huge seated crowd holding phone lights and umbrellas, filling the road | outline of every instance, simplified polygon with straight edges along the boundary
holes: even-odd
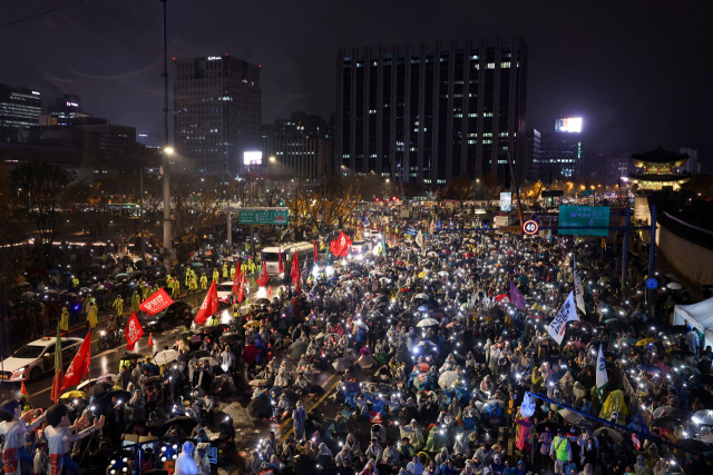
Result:
[[[711,471],[713,353],[668,324],[670,295],[646,305],[644,274],[619,283],[615,259],[572,237],[423,226],[419,244],[389,240],[315,264],[303,291],[258,300],[231,325],[126,355],[115,378],[46,416],[22,410],[27,399],[3,403],[6,473],[51,472],[52,455],[76,472],[84,454],[109,473],[173,464],[207,474],[211,447],[245,448],[221,412],[241,392],[256,422],[284,423],[246,452],[240,473],[251,475]],[[573,290],[575,261],[585,308],[558,344],[547,325]],[[335,392],[319,397],[332,374]],[[316,399],[326,415],[312,410]],[[62,427],[57,448],[52,427]],[[126,434],[157,442],[123,458]]]

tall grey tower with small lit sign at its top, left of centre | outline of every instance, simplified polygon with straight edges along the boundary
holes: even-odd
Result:
[[[175,63],[176,164],[198,174],[235,176],[243,154],[261,147],[260,66],[227,55]]]

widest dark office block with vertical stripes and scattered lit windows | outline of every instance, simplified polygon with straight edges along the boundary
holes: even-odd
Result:
[[[434,189],[526,157],[527,47],[519,37],[339,51],[335,171]],[[343,170],[343,169],[342,169]]]

